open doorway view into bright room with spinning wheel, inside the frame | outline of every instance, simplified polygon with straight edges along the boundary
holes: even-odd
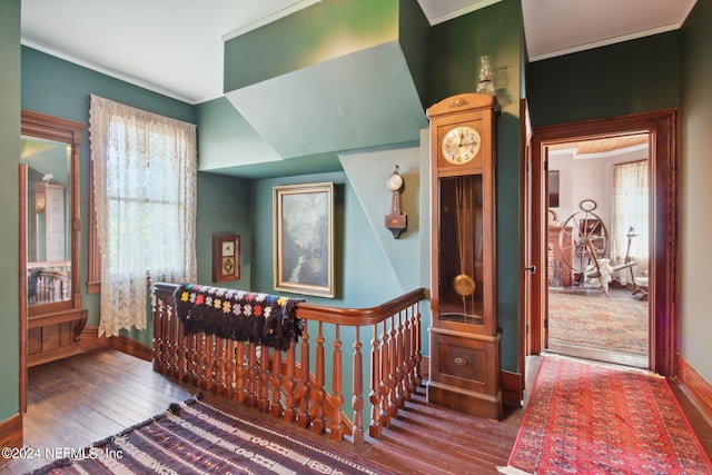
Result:
[[[647,368],[650,135],[545,147],[547,352]]]

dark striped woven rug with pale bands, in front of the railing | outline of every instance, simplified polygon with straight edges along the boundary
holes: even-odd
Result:
[[[192,397],[32,474],[383,474],[333,445],[301,439]]]

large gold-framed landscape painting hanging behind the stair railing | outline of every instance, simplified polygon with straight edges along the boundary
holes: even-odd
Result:
[[[334,184],[274,187],[275,289],[335,296]]]

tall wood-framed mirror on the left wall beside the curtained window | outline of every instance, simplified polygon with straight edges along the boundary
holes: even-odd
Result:
[[[78,308],[79,144],[85,126],[22,111],[29,315]]]

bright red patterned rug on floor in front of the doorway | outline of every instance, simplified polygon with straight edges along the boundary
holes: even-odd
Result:
[[[665,378],[543,358],[505,474],[712,474]]]

